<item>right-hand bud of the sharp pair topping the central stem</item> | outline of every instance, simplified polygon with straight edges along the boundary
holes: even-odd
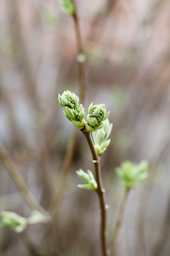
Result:
[[[103,121],[107,119],[109,112],[106,113],[105,104],[94,105],[93,102],[89,106],[89,114],[87,116],[87,131],[95,131],[103,127]]]

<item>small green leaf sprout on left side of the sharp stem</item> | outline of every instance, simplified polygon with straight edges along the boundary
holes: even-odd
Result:
[[[76,171],[78,177],[82,179],[86,184],[77,185],[80,189],[87,189],[87,190],[96,190],[97,189],[97,182],[94,178],[93,173],[88,170],[87,173],[83,170],[79,169],[79,171]]]

